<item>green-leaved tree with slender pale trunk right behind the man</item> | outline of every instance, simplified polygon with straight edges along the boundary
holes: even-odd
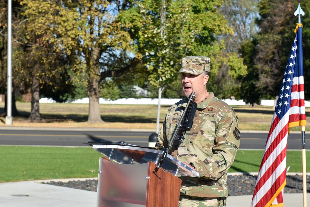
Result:
[[[158,88],[159,126],[162,91],[175,80],[176,68],[184,56],[206,55],[213,61],[212,73],[217,74],[222,64],[231,64],[228,73],[246,73],[242,60],[226,55],[222,42],[216,36],[229,33],[218,8],[221,1],[134,1],[135,7],[120,13],[131,38],[137,42],[143,63],[150,72],[148,81]],[[211,23],[211,24],[210,24]],[[236,64],[236,61],[239,61]],[[239,65],[238,65],[239,64]],[[239,70],[239,71],[237,71]]]

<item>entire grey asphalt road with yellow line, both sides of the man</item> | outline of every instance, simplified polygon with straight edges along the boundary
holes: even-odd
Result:
[[[91,146],[88,142],[121,142],[148,146],[152,130],[104,130],[104,129],[23,129],[0,128],[0,145],[41,145],[41,146]],[[268,132],[241,131],[241,149],[264,149]],[[308,135],[308,139],[307,139]],[[309,143],[306,133],[306,148]],[[291,132],[287,148],[301,149],[300,132]],[[309,147],[310,148],[310,147]]]

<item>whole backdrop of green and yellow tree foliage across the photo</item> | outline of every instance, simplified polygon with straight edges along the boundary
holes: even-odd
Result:
[[[310,2],[300,4],[306,14],[301,20],[308,99]],[[0,0],[1,5],[3,93],[6,2]],[[158,88],[165,89],[163,98],[182,98],[176,81],[181,58],[206,55],[211,58],[208,91],[219,98],[259,103],[278,94],[297,6],[284,0],[13,1],[13,85],[27,93],[35,76],[41,94],[59,101],[96,94],[134,97],[133,85],[148,89],[153,98]],[[106,84],[107,77],[113,78],[114,86]]]

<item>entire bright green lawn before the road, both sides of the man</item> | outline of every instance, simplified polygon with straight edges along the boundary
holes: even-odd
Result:
[[[0,182],[97,177],[101,156],[91,147],[0,146]],[[228,172],[258,172],[262,156],[262,150],[239,150]],[[301,156],[301,151],[287,151],[289,172],[302,172]]]

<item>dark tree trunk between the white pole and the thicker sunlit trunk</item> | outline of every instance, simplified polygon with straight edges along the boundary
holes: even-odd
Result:
[[[44,122],[40,115],[40,85],[37,77],[33,75],[32,77],[32,95],[31,95],[31,113],[28,121],[31,122]]]

